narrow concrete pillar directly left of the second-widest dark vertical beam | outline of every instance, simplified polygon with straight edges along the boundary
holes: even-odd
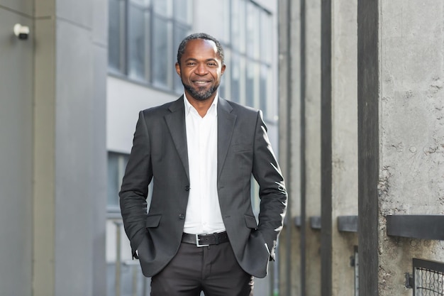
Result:
[[[304,0],[301,16],[301,97],[304,121],[301,122],[304,152],[301,153],[301,198],[304,198],[304,246],[301,249],[301,295],[321,295],[321,231],[312,229],[310,217],[321,216],[321,0]],[[302,131],[304,134],[302,134]]]

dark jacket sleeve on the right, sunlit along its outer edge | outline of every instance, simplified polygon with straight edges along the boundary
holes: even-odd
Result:
[[[287,190],[267,136],[267,127],[262,120],[261,111],[257,112],[252,174],[259,185],[258,230],[267,243],[270,260],[274,260],[277,237],[282,230],[287,209]]]

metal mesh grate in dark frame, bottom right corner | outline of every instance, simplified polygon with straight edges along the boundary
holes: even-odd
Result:
[[[444,263],[414,258],[414,296],[444,296]]]

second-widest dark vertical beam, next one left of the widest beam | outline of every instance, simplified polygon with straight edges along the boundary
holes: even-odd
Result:
[[[332,295],[331,0],[321,2],[321,295]]]

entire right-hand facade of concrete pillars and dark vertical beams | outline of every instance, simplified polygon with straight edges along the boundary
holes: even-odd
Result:
[[[279,1],[279,295],[443,293],[443,12]]]

